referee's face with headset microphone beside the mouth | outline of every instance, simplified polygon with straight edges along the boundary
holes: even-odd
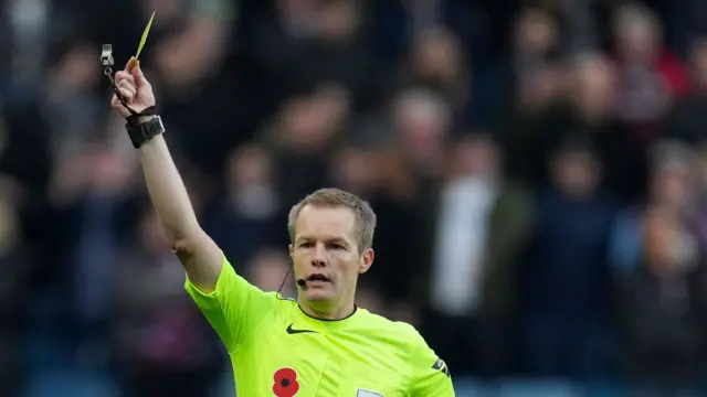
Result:
[[[373,251],[359,253],[354,211],[306,205],[295,223],[289,253],[295,277],[306,280],[299,299],[313,309],[330,310],[354,298],[358,275],[368,270]]]

